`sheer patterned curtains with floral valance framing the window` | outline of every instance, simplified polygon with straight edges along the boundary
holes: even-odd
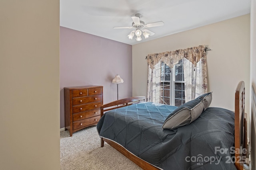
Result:
[[[147,101],[160,102],[161,62],[173,68],[184,58],[185,100],[188,102],[207,92],[205,45],[147,55]]]

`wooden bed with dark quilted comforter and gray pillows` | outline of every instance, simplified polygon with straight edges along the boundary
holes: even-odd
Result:
[[[104,104],[97,124],[101,147],[108,143],[145,170],[242,170],[244,82],[236,88],[235,111],[209,107],[211,98],[204,94],[180,107],[145,97]]]

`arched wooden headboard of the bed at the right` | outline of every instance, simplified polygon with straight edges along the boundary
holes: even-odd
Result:
[[[235,153],[236,168],[243,170],[243,154],[242,149],[246,149],[246,117],[244,116],[244,82],[240,81],[236,87],[235,93],[235,149],[239,152]]]

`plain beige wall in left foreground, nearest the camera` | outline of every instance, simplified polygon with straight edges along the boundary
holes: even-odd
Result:
[[[0,169],[60,169],[59,1],[0,1]]]

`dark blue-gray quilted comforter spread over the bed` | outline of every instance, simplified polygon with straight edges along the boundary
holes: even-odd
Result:
[[[152,102],[106,112],[97,124],[100,137],[119,143],[164,170],[233,170],[234,113],[209,107],[189,125],[162,129],[175,106]],[[232,157],[233,156],[233,157]]]

